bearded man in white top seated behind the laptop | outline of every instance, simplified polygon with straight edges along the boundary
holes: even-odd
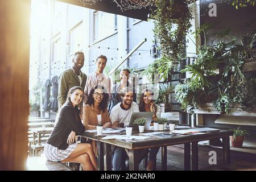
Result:
[[[110,113],[110,120],[113,127],[127,126],[131,114],[139,112],[139,106],[133,102],[134,90],[128,87],[121,92],[122,102],[113,107]],[[112,167],[114,171],[125,170],[126,152],[123,148],[117,147],[112,154]]]

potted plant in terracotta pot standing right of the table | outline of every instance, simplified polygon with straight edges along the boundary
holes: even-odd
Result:
[[[232,147],[242,148],[243,139],[245,139],[245,135],[248,135],[248,131],[242,130],[241,127],[237,127],[233,129],[233,136],[230,136]]]

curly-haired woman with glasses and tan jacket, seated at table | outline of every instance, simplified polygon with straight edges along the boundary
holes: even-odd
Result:
[[[96,85],[90,90],[88,102],[82,110],[82,122],[86,129],[96,129],[97,125],[102,125],[104,128],[112,126],[107,109],[108,100],[109,94],[106,93],[104,86]],[[94,141],[92,146],[97,155]]]

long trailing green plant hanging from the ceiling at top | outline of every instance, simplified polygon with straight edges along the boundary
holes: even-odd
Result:
[[[184,55],[185,36],[191,27],[192,13],[188,7],[191,2],[193,1],[155,1],[154,33],[160,42],[163,64],[168,65],[159,71],[169,72],[176,67]],[[166,76],[165,74],[163,77],[166,78]]]

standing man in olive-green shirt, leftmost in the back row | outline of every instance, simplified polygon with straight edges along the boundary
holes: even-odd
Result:
[[[58,104],[59,109],[67,100],[68,90],[73,86],[81,86],[85,88],[87,76],[81,71],[84,66],[84,53],[76,52],[73,57],[73,67],[65,70],[59,77],[59,94]],[[80,110],[82,109],[82,103],[80,104]]]

